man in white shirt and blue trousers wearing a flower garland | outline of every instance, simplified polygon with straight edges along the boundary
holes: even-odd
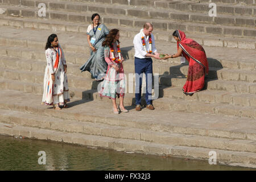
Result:
[[[154,110],[152,105],[152,59],[160,59],[159,53],[155,48],[155,38],[152,34],[153,26],[151,23],[145,23],[141,32],[134,36],[133,44],[135,49],[135,99],[136,110],[141,110],[141,88],[143,73],[146,75],[146,104],[147,109]]]

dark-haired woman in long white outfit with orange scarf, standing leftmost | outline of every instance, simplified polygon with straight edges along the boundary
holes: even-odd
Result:
[[[60,110],[59,105],[67,108],[69,102],[67,64],[56,34],[48,37],[46,60],[42,105],[53,105],[53,109],[56,110]]]

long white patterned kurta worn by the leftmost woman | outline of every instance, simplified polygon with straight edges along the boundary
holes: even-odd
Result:
[[[59,52],[59,64],[56,57]],[[48,48],[46,50],[47,66],[44,73],[44,93],[42,103],[46,105],[59,104],[63,105],[64,101],[69,101],[68,93],[68,77],[64,73],[64,65],[66,64],[63,49],[59,45],[56,49]],[[52,74],[55,73],[55,81],[52,82]]]

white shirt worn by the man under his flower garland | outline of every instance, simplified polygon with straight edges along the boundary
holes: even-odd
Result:
[[[142,35],[144,36],[144,39],[146,41],[146,49],[147,49],[147,51],[149,51],[149,36],[145,36],[145,34],[143,33],[142,30],[141,30]],[[138,57],[140,59],[149,58],[149,57],[145,56],[147,54],[147,52],[144,50],[144,47],[142,45],[141,32],[139,32],[139,34],[135,35],[134,39],[133,39],[133,44],[134,44],[134,49],[135,49],[134,56]],[[152,51],[152,53],[155,53],[157,50],[155,48],[155,38],[154,38],[153,34],[151,34],[151,40],[152,40],[152,44],[151,44],[152,50],[151,51]]]

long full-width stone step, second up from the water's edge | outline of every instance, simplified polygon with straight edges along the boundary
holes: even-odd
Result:
[[[102,123],[78,122],[71,119],[59,119],[48,116],[23,113],[12,110],[0,110],[1,123],[14,126],[27,126],[39,129],[81,133],[102,137],[139,140],[171,146],[216,148],[226,151],[256,152],[255,140],[201,137],[164,131],[150,131],[124,126],[111,126]]]

